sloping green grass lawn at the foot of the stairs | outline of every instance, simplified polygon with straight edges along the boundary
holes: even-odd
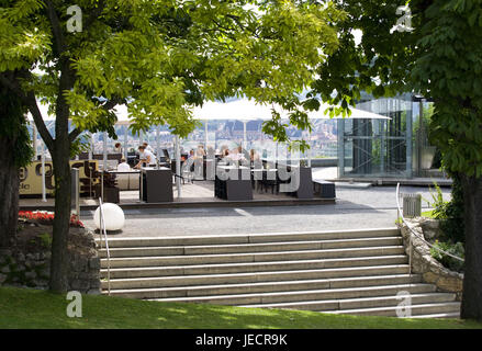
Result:
[[[482,328],[458,319],[356,317],[314,312],[158,303],[110,296],[82,296],[82,317],[69,318],[66,295],[0,287],[0,328]]]

